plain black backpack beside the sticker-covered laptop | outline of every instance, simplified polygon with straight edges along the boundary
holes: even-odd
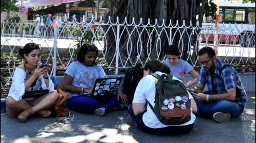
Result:
[[[143,68],[139,65],[129,68],[124,76],[124,94],[127,95],[127,103],[131,104],[139,81],[143,78]]]

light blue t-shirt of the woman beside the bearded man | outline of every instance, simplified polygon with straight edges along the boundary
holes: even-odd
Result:
[[[180,62],[177,63],[177,65],[171,65],[167,59],[162,60],[162,63],[167,65],[170,68],[170,74],[179,78],[179,80],[182,80],[185,74],[194,69],[188,62],[185,62],[185,60],[182,59],[180,59]]]

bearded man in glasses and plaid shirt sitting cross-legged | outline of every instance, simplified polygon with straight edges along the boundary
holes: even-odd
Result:
[[[217,122],[239,117],[247,103],[247,94],[235,68],[217,59],[211,47],[200,49],[199,63],[202,68],[198,83],[192,89],[199,116]],[[208,91],[202,93],[205,85]]]

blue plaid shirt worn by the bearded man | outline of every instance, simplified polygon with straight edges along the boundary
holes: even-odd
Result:
[[[200,70],[198,83],[200,85],[207,84],[207,88],[210,94],[214,94],[212,90],[212,80],[217,90],[217,94],[226,93],[230,88],[237,88],[241,90],[241,93],[237,93],[235,102],[245,106],[247,103],[247,94],[245,93],[244,86],[242,85],[241,79],[234,67],[225,67],[222,73],[221,68],[227,65],[222,60],[217,59],[216,69],[213,74],[210,71],[205,70],[203,67]],[[212,76],[211,76],[212,75]],[[213,77],[213,78],[212,78]]]

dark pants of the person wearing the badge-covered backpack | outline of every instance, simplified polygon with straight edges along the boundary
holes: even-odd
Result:
[[[177,135],[177,134],[187,134],[192,131],[194,124],[189,124],[187,126],[169,126],[169,127],[162,127],[153,129],[150,127],[145,126],[144,122],[142,121],[142,116],[145,113],[140,113],[135,116],[132,106],[128,107],[128,112],[132,119],[137,123],[137,125],[142,129],[142,131],[147,132],[148,134],[154,135]]]

